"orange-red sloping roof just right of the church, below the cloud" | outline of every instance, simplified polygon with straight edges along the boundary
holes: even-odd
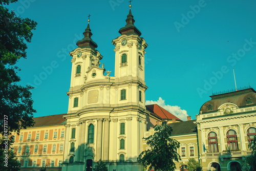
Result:
[[[152,115],[157,116],[159,119],[172,120],[173,118],[175,118],[177,121],[182,121],[178,117],[174,116],[173,114],[163,109],[158,104],[146,105],[146,109],[150,111]]]

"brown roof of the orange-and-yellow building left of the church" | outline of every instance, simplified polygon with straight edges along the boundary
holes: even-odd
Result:
[[[46,125],[57,125],[57,124],[65,124],[66,119],[64,119],[62,116],[66,114],[59,114],[59,115],[49,115],[49,116],[42,116],[42,117],[36,117],[33,118],[35,121],[36,126],[46,126]]]

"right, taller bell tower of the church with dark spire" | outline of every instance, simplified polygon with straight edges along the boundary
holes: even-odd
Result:
[[[132,5],[129,7],[126,25],[119,30],[121,35],[112,41],[115,46],[115,78],[119,81],[133,79],[145,85],[144,55],[147,44],[134,25]]]

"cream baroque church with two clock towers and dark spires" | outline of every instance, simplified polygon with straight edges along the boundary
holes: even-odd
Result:
[[[144,54],[147,44],[131,13],[115,46],[115,76],[106,71],[88,26],[72,57],[71,86],[62,170],[92,170],[94,161],[110,170],[141,170],[140,140],[150,113],[145,107]],[[85,155],[85,156],[84,156]],[[83,157],[84,156],[84,157]],[[125,162],[124,162],[125,161]]]

